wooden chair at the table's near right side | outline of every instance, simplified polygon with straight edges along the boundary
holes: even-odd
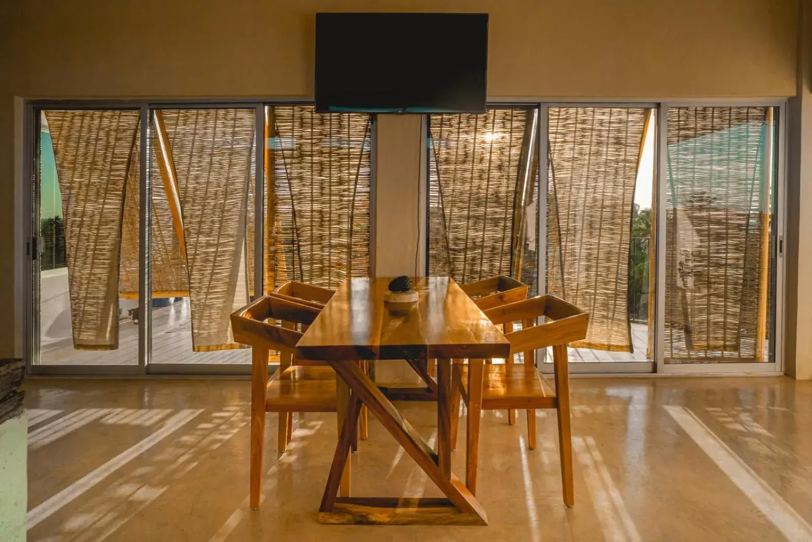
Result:
[[[536,447],[535,409],[555,409],[559,423],[559,450],[561,455],[561,480],[564,486],[564,504],[575,502],[572,489],[572,442],[569,414],[569,373],[567,366],[568,343],[586,336],[589,314],[554,296],[538,296],[516,301],[485,311],[491,322],[512,324],[521,322],[522,329],[505,333],[511,343],[510,357],[504,365],[484,364],[482,390],[468,389],[469,367],[454,365],[453,386],[460,392],[468,406],[468,416],[480,415],[481,410],[520,409],[527,410],[527,432],[530,449]],[[536,319],[540,323],[535,323]],[[544,320],[549,320],[544,322]],[[555,388],[533,363],[533,350],[553,347],[553,371]],[[516,353],[525,353],[525,363],[513,363]],[[457,420],[452,420],[456,425]],[[470,427],[470,426],[469,426]],[[456,427],[452,427],[452,438]],[[469,446],[478,449],[478,436]],[[474,444],[470,444],[473,442]],[[470,454],[469,454],[470,455]],[[476,457],[476,453],[473,454]],[[473,487],[476,487],[476,472]],[[471,482],[471,480],[469,480]],[[469,486],[470,488],[471,486]],[[473,490],[472,490],[473,492]]]

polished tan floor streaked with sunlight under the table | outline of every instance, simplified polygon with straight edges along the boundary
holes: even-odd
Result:
[[[335,414],[298,418],[282,455],[269,415],[265,501],[250,511],[245,380],[26,388],[28,540],[812,540],[809,382],[573,379],[572,509],[561,502],[555,414],[537,412],[531,451],[525,413],[509,426],[488,412],[478,491],[488,527],[318,524]],[[399,407],[433,437],[432,405]],[[356,495],[438,495],[377,420],[352,462]]]

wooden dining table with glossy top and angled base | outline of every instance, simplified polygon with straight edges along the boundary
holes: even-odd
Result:
[[[483,363],[507,358],[510,344],[471,298],[449,277],[412,279],[418,300],[384,301],[387,278],[345,280],[296,346],[298,358],[329,362],[335,369],[339,440],[318,518],[339,524],[486,525],[475,496],[479,453]],[[469,360],[469,414],[465,482],[451,472],[451,363]],[[404,415],[361,370],[363,360],[437,360],[437,448],[432,449]],[[460,383],[461,384],[461,383]],[[382,427],[445,497],[351,496],[349,453],[358,413],[366,405]],[[382,481],[383,483],[383,481]]]

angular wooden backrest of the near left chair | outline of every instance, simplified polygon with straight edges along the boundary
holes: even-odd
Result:
[[[231,313],[231,328],[234,340],[243,345],[292,354],[302,333],[277,325],[277,320],[308,326],[318,313],[312,306],[282,297],[263,296]]]

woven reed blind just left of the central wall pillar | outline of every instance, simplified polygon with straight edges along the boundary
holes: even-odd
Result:
[[[266,291],[369,275],[369,115],[273,106],[266,170]]]

